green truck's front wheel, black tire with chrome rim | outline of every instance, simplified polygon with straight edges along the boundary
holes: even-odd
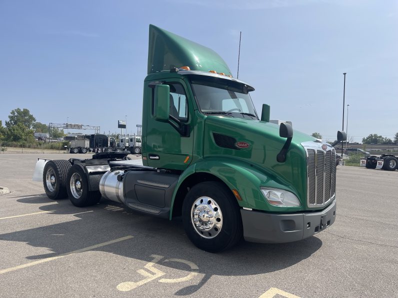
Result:
[[[189,240],[210,253],[234,246],[243,235],[236,199],[219,182],[202,182],[189,190],[182,204],[182,222]]]

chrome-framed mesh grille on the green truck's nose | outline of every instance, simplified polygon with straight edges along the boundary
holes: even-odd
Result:
[[[307,204],[308,207],[321,207],[335,195],[336,154],[330,145],[324,151],[321,144],[308,143],[302,144],[307,153]]]

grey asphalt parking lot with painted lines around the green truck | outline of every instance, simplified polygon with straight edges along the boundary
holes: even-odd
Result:
[[[49,200],[36,157],[76,155],[0,155],[0,297],[398,297],[398,171],[339,166],[330,228],[210,254],[179,219]]]

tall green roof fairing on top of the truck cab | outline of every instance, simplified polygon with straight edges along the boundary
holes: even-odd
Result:
[[[181,66],[232,75],[225,61],[212,49],[149,25],[148,74]]]

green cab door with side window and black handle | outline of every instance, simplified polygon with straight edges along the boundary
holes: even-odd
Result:
[[[189,133],[181,135],[170,123],[156,121],[153,117],[153,89],[151,95],[151,115],[146,117],[146,138],[143,139],[148,166],[155,168],[184,170],[192,160],[193,151],[193,106],[186,94],[182,80],[169,79],[163,84],[170,86],[170,115],[187,125]],[[145,86],[147,87],[147,85]],[[149,88],[149,87],[148,87]],[[170,120],[172,121],[172,120]]]

